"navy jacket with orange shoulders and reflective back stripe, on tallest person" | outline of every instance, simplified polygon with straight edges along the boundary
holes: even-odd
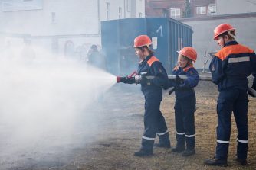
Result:
[[[248,89],[247,77],[256,72],[256,56],[253,50],[235,40],[225,44],[212,59],[209,66],[212,82],[218,91],[226,88]]]

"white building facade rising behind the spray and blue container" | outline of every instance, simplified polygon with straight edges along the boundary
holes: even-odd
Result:
[[[0,4],[0,43],[18,46],[29,38],[54,53],[78,57],[92,44],[100,47],[100,21],[145,16],[144,0],[0,0]]]

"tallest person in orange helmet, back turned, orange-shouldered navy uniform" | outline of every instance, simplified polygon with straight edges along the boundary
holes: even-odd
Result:
[[[227,166],[231,135],[231,113],[234,113],[237,136],[237,162],[247,165],[248,153],[248,79],[256,71],[253,50],[235,41],[235,28],[220,24],[214,30],[214,40],[221,50],[215,54],[209,69],[212,82],[218,85],[218,126],[215,156],[206,159],[205,165]],[[255,78],[254,78],[255,79]]]

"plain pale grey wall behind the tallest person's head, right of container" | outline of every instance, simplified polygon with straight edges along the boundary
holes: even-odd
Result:
[[[256,34],[254,34],[254,31],[256,30],[256,17],[185,21],[183,23],[192,26],[193,29],[192,46],[195,47],[195,50],[198,52],[198,59],[195,63],[195,68],[197,69],[203,68],[205,51],[208,53],[220,50],[216,41],[213,40],[213,30],[218,24],[231,24],[236,28],[237,36],[235,37],[235,40],[237,40],[238,43],[256,50]],[[209,58],[211,59],[211,57]],[[208,64],[206,68],[208,69]]]

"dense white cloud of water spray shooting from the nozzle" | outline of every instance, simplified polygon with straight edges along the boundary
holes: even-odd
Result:
[[[2,153],[18,152],[34,143],[41,149],[61,146],[81,133],[77,124],[88,123],[84,127],[93,133],[97,117],[88,107],[100,104],[104,91],[115,83],[113,75],[93,66],[40,49],[36,52],[29,60],[1,58]]]

